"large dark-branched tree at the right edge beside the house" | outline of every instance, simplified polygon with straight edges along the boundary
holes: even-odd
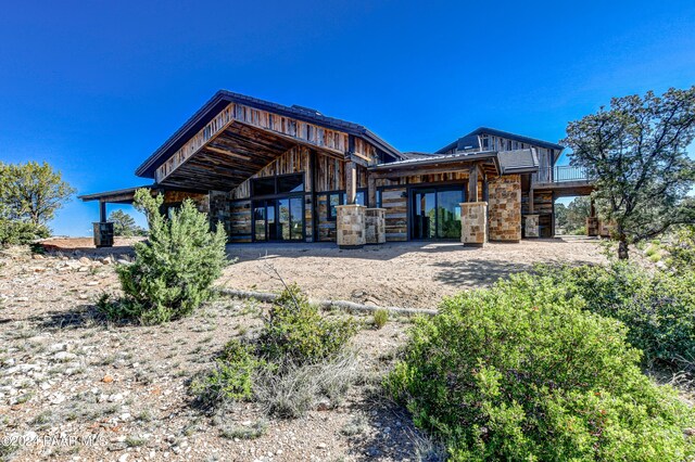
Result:
[[[620,258],[628,244],[648,240],[678,223],[695,223],[685,197],[695,185],[695,162],[686,147],[695,138],[695,87],[656,97],[614,98],[569,123],[572,165],[595,179],[601,215],[615,222]]]

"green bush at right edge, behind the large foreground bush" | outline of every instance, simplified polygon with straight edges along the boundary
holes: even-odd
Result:
[[[695,271],[646,271],[629,262],[608,267],[541,268],[585,308],[622,321],[628,342],[647,363],[695,359]]]

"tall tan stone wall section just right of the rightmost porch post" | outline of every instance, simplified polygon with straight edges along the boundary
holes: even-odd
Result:
[[[521,240],[521,177],[505,175],[488,183],[491,241]]]

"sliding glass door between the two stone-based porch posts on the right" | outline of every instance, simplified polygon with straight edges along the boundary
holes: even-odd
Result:
[[[418,188],[410,193],[410,239],[460,239],[464,187]]]

